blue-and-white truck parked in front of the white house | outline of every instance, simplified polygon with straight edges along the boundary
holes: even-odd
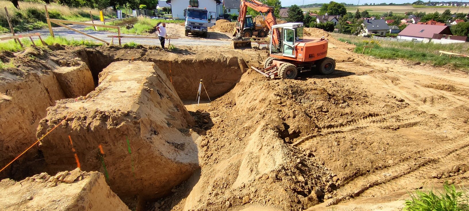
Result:
[[[185,36],[189,33],[196,36],[207,37],[207,27],[215,23],[215,13],[197,7],[187,7],[184,9]]]

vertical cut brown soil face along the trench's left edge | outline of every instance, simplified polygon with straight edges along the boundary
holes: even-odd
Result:
[[[33,144],[40,119],[46,115],[46,109],[56,100],[86,95],[94,89],[88,66],[83,62],[77,66],[61,67],[49,60],[51,72],[35,71],[15,79],[14,75],[3,72],[0,81],[0,166],[4,167],[18,154]],[[21,178],[40,172],[41,164],[34,162],[42,155],[35,146],[24,157],[13,163],[0,178]],[[23,177],[24,178],[24,177]]]

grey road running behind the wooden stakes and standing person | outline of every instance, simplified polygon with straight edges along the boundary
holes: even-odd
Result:
[[[174,24],[176,25],[176,24]],[[82,25],[68,25],[69,27],[73,29],[77,29],[80,31],[83,31],[91,36],[98,37],[102,40],[105,40],[107,42],[111,42],[110,37],[107,37],[109,35],[117,35],[117,33],[114,32],[107,32],[107,31],[94,31],[94,30],[84,30],[88,26],[82,26]],[[180,26],[183,28],[183,26]],[[28,32],[21,32],[17,34],[29,34],[29,33],[41,33],[42,36],[50,36],[49,29],[38,29],[38,30],[33,30],[33,31],[28,31]],[[91,37],[84,36],[80,33],[77,33],[75,31],[65,29],[63,27],[53,27],[53,32],[55,36],[62,36],[67,39],[75,39],[75,40],[91,40],[95,41],[97,43],[100,43],[100,41],[95,40]],[[171,36],[172,34],[168,32],[168,34]],[[209,37],[208,38],[196,38],[196,37],[185,37],[181,36],[180,39],[173,39],[171,40],[171,44],[174,45],[207,45],[207,46],[220,46],[220,45],[230,45],[229,37],[225,38],[219,38],[220,36],[218,35],[220,33],[217,32],[209,32]],[[121,35],[126,35],[124,33],[121,33]],[[129,35],[129,36],[142,36],[142,35]],[[156,34],[151,34],[151,36],[157,36]],[[38,39],[38,37],[33,37],[33,39]],[[117,44],[117,40],[114,39],[114,44]],[[159,45],[159,40],[157,39],[145,39],[145,38],[123,38],[122,39],[122,44],[129,43],[129,42],[135,42],[138,44],[145,44],[145,45]],[[168,44],[168,41],[166,40],[166,45]]]

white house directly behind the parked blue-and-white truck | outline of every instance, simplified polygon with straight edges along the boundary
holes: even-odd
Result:
[[[173,19],[185,19],[184,9],[189,7],[189,5],[216,13],[215,17],[213,17],[216,18],[219,15],[218,5],[221,5],[220,0],[166,0],[166,3],[171,5]]]

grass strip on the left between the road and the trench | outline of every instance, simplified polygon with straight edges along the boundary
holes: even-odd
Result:
[[[95,43],[93,41],[88,41],[88,40],[75,40],[75,39],[66,39],[61,36],[55,36],[54,38],[52,36],[49,36],[44,39],[44,42],[47,45],[53,45],[53,44],[62,44],[62,45],[69,45],[69,46],[99,46],[102,44]],[[24,48],[30,47],[32,45],[32,42],[29,38],[23,38],[21,39],[21,43],[23,44]],[[35,40],[34,44],[37,46],[42,46],[43,44],[41,43],[40,40]],[[16,43],[15,40],[8,40],[7,42],[1,42],[0,43],[0,51],[12,51],[12,52],[18,52],[18,51],[23,51],[24,48],[21,47],[19,43]]]

